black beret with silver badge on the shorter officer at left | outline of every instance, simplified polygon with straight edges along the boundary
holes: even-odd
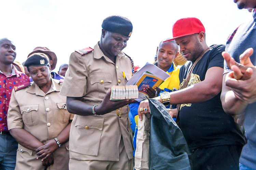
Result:
[[[33,53],[28,56],[24,66],[46,66],[49,65],[49,59],[44,53]]]

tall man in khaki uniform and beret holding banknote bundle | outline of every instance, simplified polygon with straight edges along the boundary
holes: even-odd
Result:
[[[69,169],[133,169],[132,132],[127,104],[110,101],[112,85],[126,85],[133,64],[122,50],[132,33],[130,20],[103,20],[100,41],[73,52],[60,95],[74,116],[70,129]]]

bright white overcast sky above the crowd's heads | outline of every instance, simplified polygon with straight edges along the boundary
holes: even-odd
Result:
[[[172,37],[172,25],[180,18],[199,18],[210,46],[225,44],[251,14],[238,10],[232,0],[9,0],[0,1],[0,15],[0,38],[14,42],[16,61],[24,62],[35,47],[44,46],[56,53],[57,72],[74,50],[94,47],[101,23],[110,15],[131,20],[133,33],[123,51],[143,66],[154,62],[159,42]]]

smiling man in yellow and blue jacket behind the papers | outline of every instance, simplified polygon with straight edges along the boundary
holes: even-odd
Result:
[[[178,52],[178,46],[175,44],[174,41],[168,41],[163,43],[161,41],[156,49],[156,55],[157,55],[157,62],[154,64],[160,68],[161,70],[167,72],[170,77],[165,80],[159,87],[146,87],[146,92],[150,98],[155,97],[156,90],[158,91],[157,94],[160,95],[162,92],[166,91],[173,91],[179,89],[180,86],[180,79],[179,79],[179,72],[180,68],[177,68],[175,64],[173,63],[173,60],[177,55]],[[129,104],[130,106],[130,112],[133,117],[133,119],[136,122],[136,129],[133,136],[133,146],[136,150],[136,139],[137,139],[137,132],[138,132],[138,108],[139,108],[139,102]],[[170,105],[166,106],[166,108],[170,109]],[[171,106],[171,109],[175,109],[176,105]],[[175,119],[175,118],[174,118]],[[133,151],[133,155],[135,154],[135,150]]]

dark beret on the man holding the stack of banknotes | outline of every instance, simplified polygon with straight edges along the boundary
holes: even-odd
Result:
[[[131,21],[125,17],[117,15],[105,18],[101,27],[106,31],[118,33],[125,37],[130,37],[132,33]]]

